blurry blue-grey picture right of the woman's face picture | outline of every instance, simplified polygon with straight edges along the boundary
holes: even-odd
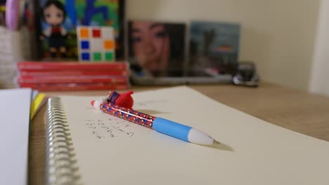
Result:
[[[191,22],[189,67],[232,73],[238,62],[239,43],[239,24]]]

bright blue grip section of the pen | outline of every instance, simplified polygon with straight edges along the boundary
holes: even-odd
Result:
[[[188,142],[188,132],[190,132],[191,127],[164,118],[155,118],[153,130]]]

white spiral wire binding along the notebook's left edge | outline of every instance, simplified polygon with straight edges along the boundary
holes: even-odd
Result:
[[[60,97],[51,97],[46,110],[46,184],[81,184],[70,128]]]

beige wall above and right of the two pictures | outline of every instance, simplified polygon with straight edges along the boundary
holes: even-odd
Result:
[[[307,90],[318,0],[127,0],[128,20],[240,22],[240,60],[261,80]]]

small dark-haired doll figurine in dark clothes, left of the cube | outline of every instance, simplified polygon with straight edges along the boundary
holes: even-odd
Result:
[[[63,4],[57,0],[47,1],[42,10],[42,18],[44,22],[49,24],[49,27],[44,29],[43,34],[49,41],[51,57],[56,57],[58,52],[60,52],[62,57],[65,57],[65,36],[67,35],[67,30],[62,25],[66,18]]]

